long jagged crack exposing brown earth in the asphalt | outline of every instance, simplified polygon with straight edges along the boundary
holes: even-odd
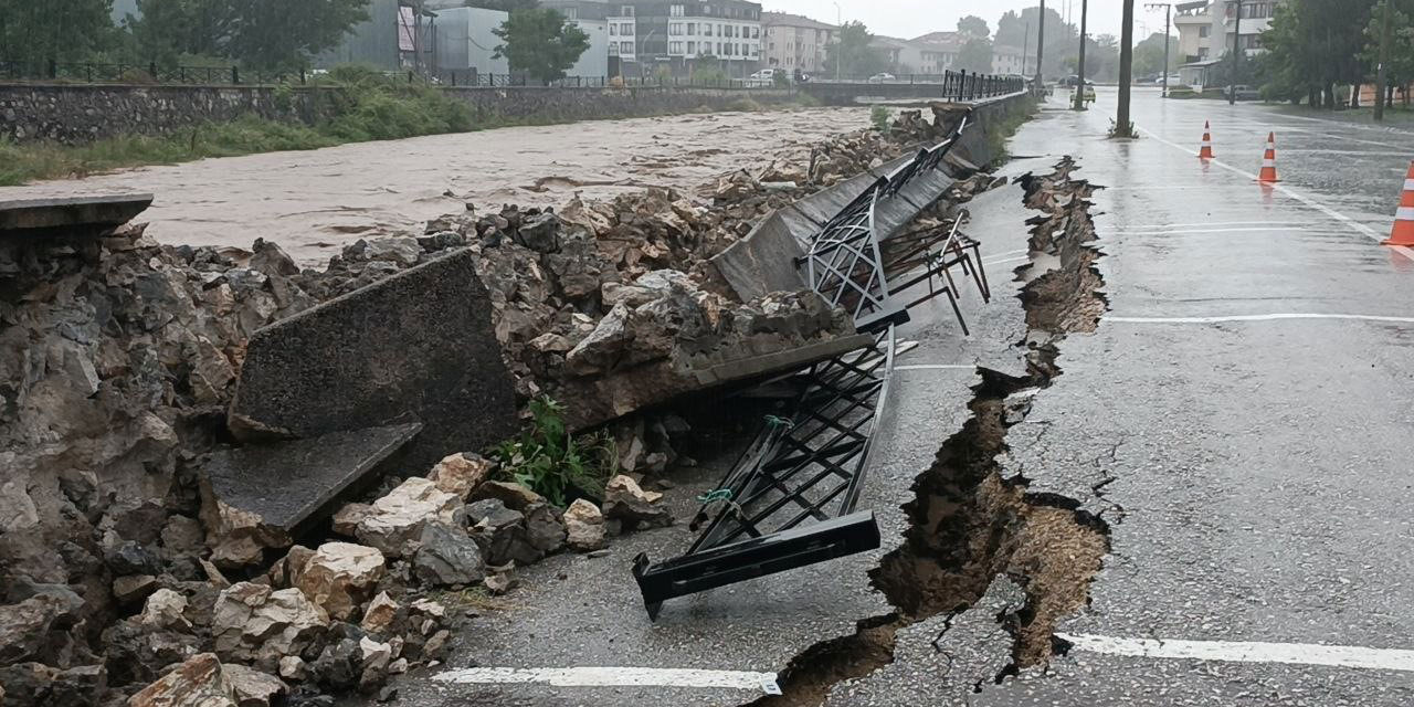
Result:
[[[971,417],[949,437],[932,467],[915,484],[905,508],[904,544],[872,570],[872,585],[894,607],[858,622],[853,635],[796,656],[782,672],[782,696],[754,706],[822,704],[830,690],[894,660],[898,632],[933,617],[952,619],[976,605],[988,587],[1007,577],[1025,594],[1019,608],[997,617],[1011,636],[1011,662],[994,676],[967,684],[980,690],[1019,670],[1045,665],[1065,650],[1056,622],[1089,602],[1089,585],[1109,553],[1109,525],[1083,510],[1082,501],[1028,491],[1029,481],[1001,461],[1007,433],[1031,411],[1035,395],[1049,387],[1060,368],[1060,344],[1070,334],[1093,332],[1107,308],[1096,267],[1090,216],[1092,187],[1072,178],[1066,158],[1055,171],[1021,177],[1025,204],[1042,214],[1028,221],[1031,263],[1018,269],[1027,337],[1027,375],[1011,376],[978,366]],[[1103,489],[1094,489],[1102,496]]]

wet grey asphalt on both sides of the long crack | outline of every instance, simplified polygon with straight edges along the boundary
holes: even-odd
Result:
[[[1010,638],[993,584],[952,621],[899,632],[895,659],[837,684],[831,706],[1414,704],[1414,252],[1379,245],[1414,133],[1257,105],[1135,95],[1140,140],[1106,139],[1113,90],[1086,113],[1053,102],[1014,139],[1007,174],[1075,156],[1094,197],[1110,311],[1060,345],[1063,375],[1011,430],[1005,467],[1031,491],[1103,512],[1111,554],[1069,652],[1000,684]],[[1212,120],[1217,160],[1196,157]],[[1254,182],[1277,133],[1275,188]],[[898,505],[967,414],[971,366],[1018,372],[1012,267],[1027,262],[1015,185],[973,206],[995,298],[915,312],[896,411],[864,506],[884,547],[670,602],[658,624],[629,575],[689,542],[622,539],[608,557],[526,570],[452,658],[406,676],[400,700],[471,704],[741,704],[807,646],[889,609],[867,573],[896,547]],[[686,508],[713,469],[679,479]],[[1097,488],[1103,492],[1096,491]],[[485,669],[527,682],[486,682]],[[667,673],[691,669],[693,673]],[[440,674],[438,674],[440,673]],[[457,682],[451,676],[464,676]],[[639,680],[639,684],[595,684]]]

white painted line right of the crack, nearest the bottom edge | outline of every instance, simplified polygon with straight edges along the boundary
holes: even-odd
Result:
[[[1261,643],[1247,641],[1157,641],[1089,633],[1056,633],[1077,650],[1134,658],[1176,658],[1233,663],[1292,663],[1372,670],[1414,670],[1414,650],[1319,643]]]

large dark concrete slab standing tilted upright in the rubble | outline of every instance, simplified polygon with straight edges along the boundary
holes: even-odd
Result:
[[[411,417],[424,431],[400,452],[409,471],[515,434],[513,380],[477,257],[454,250],[257,331],[232,431],[312,437]]]

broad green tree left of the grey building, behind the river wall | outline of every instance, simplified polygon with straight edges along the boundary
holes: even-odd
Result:
[[[139,0],[129,23],[143,59],[223,57],[252,68],[300,68],[368,20],[368,0]]]

